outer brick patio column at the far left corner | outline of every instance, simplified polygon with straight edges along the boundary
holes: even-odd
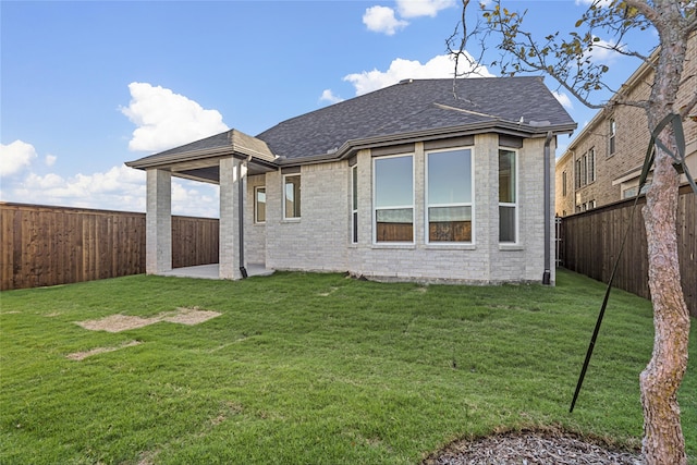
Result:
[[[172,269],[172,173],[147,170],[145,213],[145,271],[158,274]]]

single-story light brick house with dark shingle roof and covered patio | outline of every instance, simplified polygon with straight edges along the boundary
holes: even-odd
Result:
[[[220,184],[220,278],[553,283],[555,135],[575,127],[540,77],[405,79],[127,162],[147,171],[147,272],[171,269],[181,176]]]

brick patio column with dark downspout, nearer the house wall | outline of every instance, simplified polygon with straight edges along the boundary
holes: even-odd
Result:
[[[242,161],[233,157],[220,159],[220,279],[242,279],[240,209],[244,206],[241,191],[244,192],[245,174]]]

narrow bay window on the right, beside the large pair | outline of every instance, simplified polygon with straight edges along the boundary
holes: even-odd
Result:
[[[499,242],[517,242],[515,151],[499,150]]]

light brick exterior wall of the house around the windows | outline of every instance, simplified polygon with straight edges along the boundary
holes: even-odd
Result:
[[[501,283],[540,282],[543,273],[543,147],[545,138],[525,139],[517,149],[518,244],[499,244],[499,137],[477,135],[473,149],[475,171],[474,244],[426,244],[424,143],[414,144],[415,170],[414,244],[372,243],[372,155],[357,154],[358,243],[351,243],[351,167],[347,161],[301,168],[302,207],[298,220],[282,218],[281,171],[250,178],[254,186],[266,185],[267,221],[247,223],[247,262],[266,250],[266,265],[277,270],[348,271],[384,281]],[[553,169],[554,144],[550,151]],[[441,144],[442,145],[442,144]],[[445,144],[447,145],[447,144]],[[460,147],[460,145],[453,145]],[[440,149],[440,148],[439,148]],[[551,198],[554,189],[551,187]],[[253,218],[253,201],[247,218]],[[265,231],[261,232],[260,230]],[[553,232],[553,219],[550,221]],[[250,237],[254,235],[255,237]],[[260,237],[266,237],[266,247]],[[553,241],[547,245],[553,257]],[[254,258],[253,258],[254,257]],[[554,267],[551,264],[551,281]]]

